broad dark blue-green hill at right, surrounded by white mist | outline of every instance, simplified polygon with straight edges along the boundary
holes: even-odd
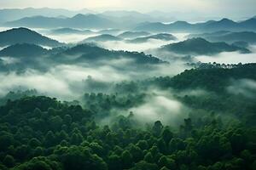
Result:
[[[190,55],[212,55],[233,51],[250,53],[247,48],[239,48],[225,42],[208,42],[203,38],[192,38],[183,42],[171,43],[161,47],[160,50],[173,52],[176,54]]]

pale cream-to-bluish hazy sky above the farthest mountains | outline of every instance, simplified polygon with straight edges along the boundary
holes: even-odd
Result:
[[[103,10],[161,11],[173,14],[248,17],[256,15],[256,0],[0,0],[1,8],[89,8]]]

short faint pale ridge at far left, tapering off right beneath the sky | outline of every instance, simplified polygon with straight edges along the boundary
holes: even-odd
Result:
[[[59,18],[60,16],[72,17],[75,14],[92,13],[94,12],[86,8],[79,11],[71,11],[63,8],[3,8],[0,9],[0,22],[20,20],[21,18],[37,15]]]

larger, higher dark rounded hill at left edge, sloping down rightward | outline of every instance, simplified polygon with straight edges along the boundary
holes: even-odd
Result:
[[[36,31],[27,28],[14,28],[0,32],[0,46],[9,46],[15,43],[33,43],[42,46],[56,47],[62,45],[49,37],[44,37]]]

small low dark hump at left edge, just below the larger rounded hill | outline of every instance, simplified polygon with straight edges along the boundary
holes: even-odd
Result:
[[[47,54],[48,50],[38,45],[22,43],[11,45],[0,51],[0,56],[8,57],[38,57]]]

